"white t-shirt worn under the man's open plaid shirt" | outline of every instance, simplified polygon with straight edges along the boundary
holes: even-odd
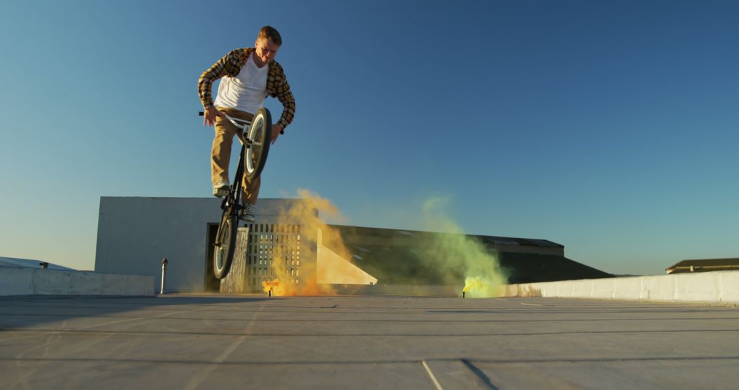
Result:
[[[254,53],[235,78],[225,76],[218,85],[214,106],[228,107],[253,114],[267,97],[267,72],[269,66],[261,68],[254,62]]]

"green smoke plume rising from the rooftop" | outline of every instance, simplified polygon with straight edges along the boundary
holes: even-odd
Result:
[[[479,239],[467,236],[459,225],[444,212],[446,198],[430,198],[423,203],[426,230],[435,233],[423,246],[423,262],[443,275],[446,284],[465,283],[466,296],[494,297],[508,276],[500,267],[497,253],[488,249]]]

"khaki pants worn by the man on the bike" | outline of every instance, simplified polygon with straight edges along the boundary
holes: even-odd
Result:
[[[239,111],[237,109],[227,109],[225,107],[217,107],[219,112],[227,114],[229,117],[251,120],[252,114]],[[216,136],[213,139],[213,149],[211,149],[211,180],[216,185],[221,179],[228,180],[228,163],[231,161],[231,145],[234,142],[234,135],[239,137],[239,141],[244,143],[242,132],[231,123],[230,120],[217,117],[216,118]],[[256,205],[256,198],[259,196],[259,185],[262,180],[249,180],[246,175],[242,179],[242,202]],[[235,183],[232,183],[235,184]]]

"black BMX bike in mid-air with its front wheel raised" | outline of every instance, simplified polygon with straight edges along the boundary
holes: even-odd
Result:
[[[200,112],[200,116],[204,113]],[[231,190],[223,197],[221,209],[223,214],[218,225],[216,240],[213,248],[213,270],[216,278],[222,279],[231,270],[231,261],[234,260],[236,250],[236,230],[239,226],[239,211],[241,205],[242,177],[256,179],[262,173],[267,162],[272,140],[272,117],[268,109],[258,109],[251,120],[243,120],[222,114],[223,117],[239,129],[242,137],[239,164],[236,165]]]

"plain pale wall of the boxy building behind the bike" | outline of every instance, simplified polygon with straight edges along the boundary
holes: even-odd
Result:
[[[259,199],[257,222],[275,223],[301,199]],[[217,198],[109,197],[100,200],[95,271],[154,276],[167,258],[166,292],[202,292],[208,224],[221,218]]]

